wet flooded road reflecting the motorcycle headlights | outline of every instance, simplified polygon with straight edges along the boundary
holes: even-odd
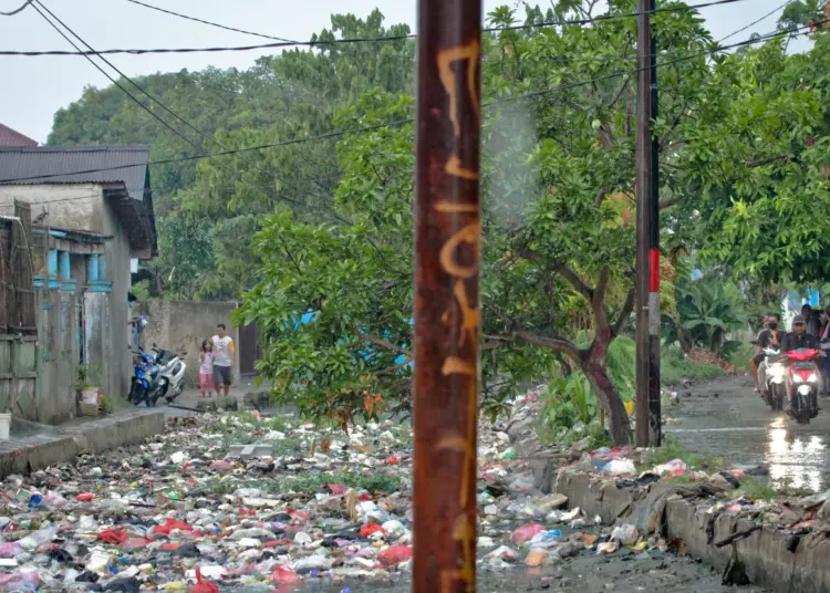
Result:
[[[664,428],[685,450],[740,466],[764,465],[775,486],[830,489],[830,400],[809,425],[774,413],[748,376],[726,377],[677,389],[679,404],[664,415],[677,420]]]

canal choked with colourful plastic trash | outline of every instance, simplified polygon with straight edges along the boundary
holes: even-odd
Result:
[[[732,591],[676,542],[532,492],[504,426],[481,426],[478,591]],[[0,590],[407,591],[411,439],[406,423],[325,436],[290,417],[208,414],[10,476]]]

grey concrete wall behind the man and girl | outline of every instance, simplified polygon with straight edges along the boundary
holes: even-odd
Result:
[[[142,335],[145,348],[157,344],[165,350],[186,350],[187,382],[199,383],[199,347],[201,341],[216,335],[216,325],[225,323],[228,335],[234,339],[237,351],[234,355],[234,381],[239,381],[239,330],[232,326],[230,315],[236,303],[149,301],[135,303],[134,310],[147,316],[147,326]]]

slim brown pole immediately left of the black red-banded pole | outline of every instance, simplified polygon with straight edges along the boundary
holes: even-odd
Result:
[[[637,0],[637,131],[636,131],[636,446],[650,444],[651,404],[651,221],[652,221],[652,34],[649,22],[650,0]]]

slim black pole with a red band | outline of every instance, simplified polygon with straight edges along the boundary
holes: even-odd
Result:
[[[649,10],[654,14],[656,1],[649,0]],[[649,72],[651,74],[650,102],[652,119],[657,118],[657,43],[649,23]],[[649,425],[651,445],[660,447],[663,441],[663,420],[660,399],[660,138],[652,134],[651,150],[651,220],[649,221]]]

